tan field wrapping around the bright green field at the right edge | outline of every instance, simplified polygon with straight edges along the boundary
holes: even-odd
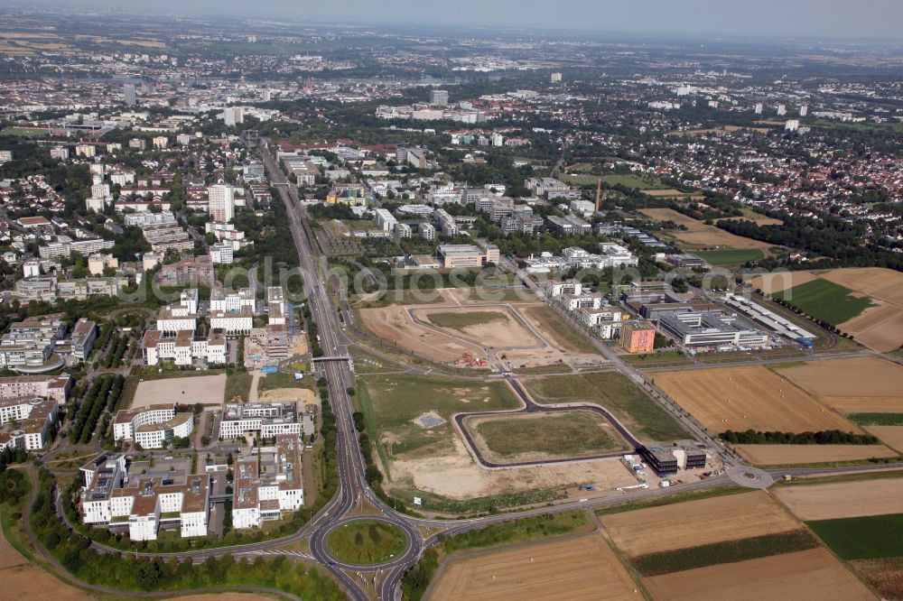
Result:
[[[878,267],[843,268],[760,275],[752,283],[753,287],[769,294],[787,289],[794,289],[796,294],[797,287],[815,281],[829,282],[852,291],[852,298],[860,304],[869,302],[859,313],[832,321],[843,332],[881,353],[903,346],[903,273]]]

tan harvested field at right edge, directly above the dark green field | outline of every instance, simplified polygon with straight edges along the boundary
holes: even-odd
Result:
[[[800,520],[903,513],[903,479],[777,486],[774,494]]]

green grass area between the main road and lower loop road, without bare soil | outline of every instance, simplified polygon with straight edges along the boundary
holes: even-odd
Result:
[[[384,462],[388,454],[453,452],[452,413],[498,411],[520,406],[507,384],[501,382],[400,374],[363,375],[358,385],[358,402],[364,413],[368,436],[377,442]],[[429,430],[414,423],[428,411],[435,411],[446,423]]]

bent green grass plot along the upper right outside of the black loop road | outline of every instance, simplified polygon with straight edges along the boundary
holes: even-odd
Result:
[[[690,436],[637,384],[617,372],[550,375],[524,384],[536,402],[596,402],[639,439],[668,441]]]

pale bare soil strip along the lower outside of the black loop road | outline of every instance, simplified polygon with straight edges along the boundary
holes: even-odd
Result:
[[[630,475],[618,459],[483,469],[470,456],[461,437],[454,435],[452,444],[452,452],[445,452],[443,446],[441,453],[421,458],[396,455],[391,462],[393,484],[413,484],[418,490],[455,500],[582,483],[594,484],[597,488],[606,490],[637,484],[636,478]]]

